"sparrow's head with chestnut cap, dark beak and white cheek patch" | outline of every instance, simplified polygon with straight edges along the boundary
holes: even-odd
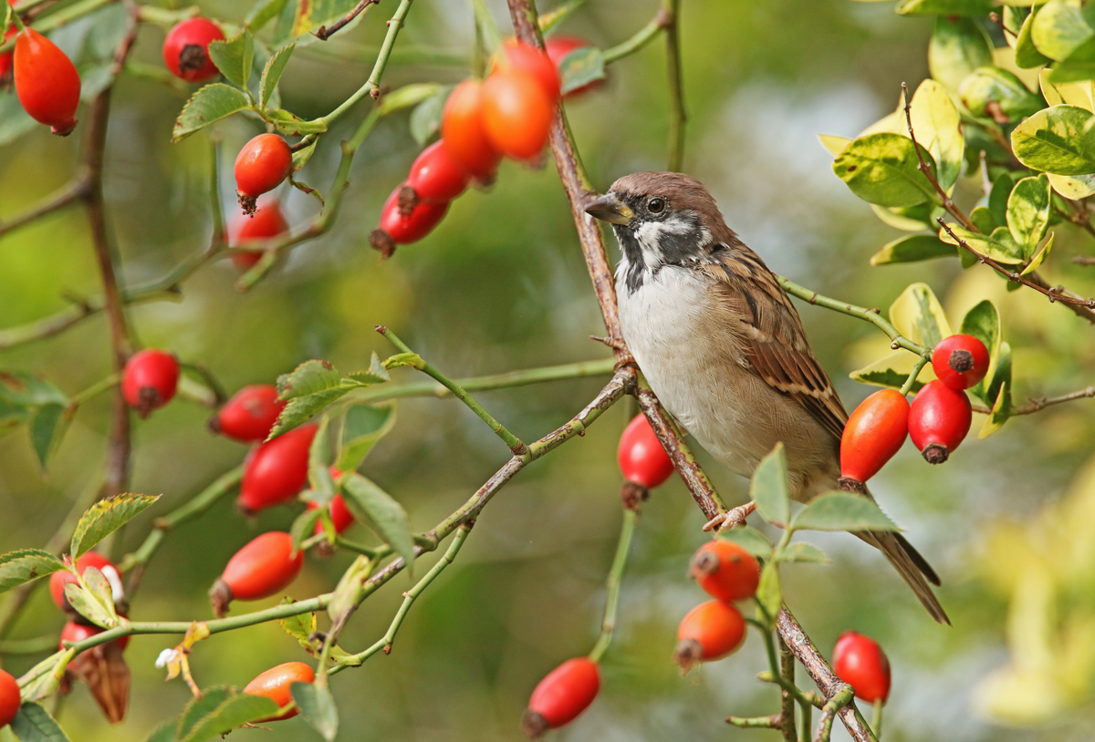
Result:
[[[586,213],[612,224],[630,271],[702,260],[735,239],[703,184],[681,173],[625,175]]]

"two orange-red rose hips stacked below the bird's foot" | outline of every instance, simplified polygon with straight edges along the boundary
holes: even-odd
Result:
[[[685,672],[700,662],[721,660],[741,647],[746,619],[734,602],[757,593],[760,565],[734,542],[717,540],[696,549],[689,572],[715,600],[689,611],[677,627],[673,659]]]

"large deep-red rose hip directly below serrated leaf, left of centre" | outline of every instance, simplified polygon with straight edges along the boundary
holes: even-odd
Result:
[[[319,427],[302,425],[252,451],[243,463],[237,508],[252,515],[288,502],[308,484],[308,450]]]

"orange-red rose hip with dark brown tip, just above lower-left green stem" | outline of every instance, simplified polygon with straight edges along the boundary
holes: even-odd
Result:
[[[275,595],[297,579],[304,553],[292,554],[292,536],[272,531],[235,553],[209,591],[214,611],[223,617],[233,600],[257,601]]]

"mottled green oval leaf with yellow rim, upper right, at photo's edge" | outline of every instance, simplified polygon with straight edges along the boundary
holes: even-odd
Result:
[[[1056,105],[1039,111],[1012,131],[1012,149],[1027,167],[1058,175],[1095,173],[1095,152],[1084,135],[1092,112]]]

